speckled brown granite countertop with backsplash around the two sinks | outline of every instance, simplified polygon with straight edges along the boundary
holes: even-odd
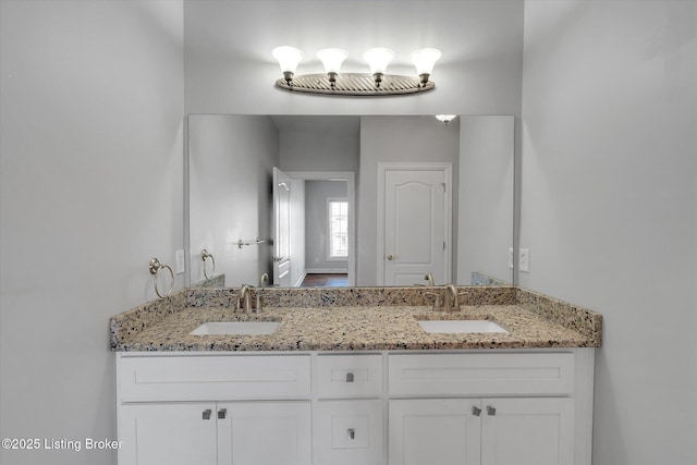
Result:
[[[436,287],[265,289],[260,314],[235,289],[187,289],[111,319],[114,351],[376,351],[600,345],[601,316],[516,287],[458,287],[460,311],[432,310]],[[424,305],[426,304],[426,305]],[[509,333],[429,334],[418,319],[489,319]],[[279,321],[268,335],[191,335],[207,321]]]

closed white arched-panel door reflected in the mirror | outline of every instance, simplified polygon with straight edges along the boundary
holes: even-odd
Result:
[[[384,285],[450,280],[447,182],[442,169],[384,172]]]

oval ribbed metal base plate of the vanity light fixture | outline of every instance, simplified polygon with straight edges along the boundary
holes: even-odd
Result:
[[[430,81],[424,84],[417,77],[384,74],[378,87],[371,74],[342,73],[337,76],[333,86],[326,74],[296,74],[293,76],[292,85],[281,78],[276,82],[276,86],[285,90],[307,94],[388,96],[428,91],[432,90],[436,84]]]

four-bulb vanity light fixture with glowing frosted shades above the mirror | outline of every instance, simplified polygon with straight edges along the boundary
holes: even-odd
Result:
[[[433,64],[441,57],[440,50],[433,48],[413,52],[411,59],[418,77],[412,77],[387,73],[388,64],[394,58],[394,51],[387,47],[375,47],[363,54],[370,74],[340,73],[348,53],[337,48],[317,52],[326,74],[295,75],[303,59],[303,52],[297,48],[277,47],[271,54],[278,60],[283,73],[283,78],[276,82],[277,87],[291,91],[344,96],[406,95],[431,90],[436,85],[430,81],[430,75]]]

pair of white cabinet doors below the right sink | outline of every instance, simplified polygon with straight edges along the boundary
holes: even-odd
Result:
[[[571,399],[390,401],[390,465],[574,463]]]

